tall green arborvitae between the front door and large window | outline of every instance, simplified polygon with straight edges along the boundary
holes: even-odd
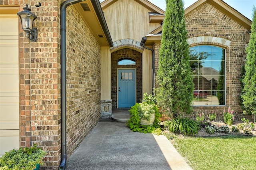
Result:
[[[194,90],[183,6],[182,0],[166,0],[156,77],[158,105],[174,118],[192,112]]]

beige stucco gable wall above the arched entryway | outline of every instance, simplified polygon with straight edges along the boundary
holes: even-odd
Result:
[[[103,10],[113,42],[122,39],[141,41],[160,23],[149,23],[147,8],[134,0],[118,0]]]

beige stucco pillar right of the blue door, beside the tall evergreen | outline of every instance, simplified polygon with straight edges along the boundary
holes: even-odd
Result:
[[[152,51],[142,53],[142,94],[152,94]]]

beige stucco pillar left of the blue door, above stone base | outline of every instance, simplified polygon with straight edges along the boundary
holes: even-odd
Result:
[[[111,99],[111,53],[109,47],[100,49],[101,64],[101,100]]]

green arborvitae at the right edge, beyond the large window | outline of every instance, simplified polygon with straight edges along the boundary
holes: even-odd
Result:
[[[246,48],[245,75],[243,79],[244,89],[242,100],[244,113],[256,114],[256,9],[253,8],[251,38]]]

